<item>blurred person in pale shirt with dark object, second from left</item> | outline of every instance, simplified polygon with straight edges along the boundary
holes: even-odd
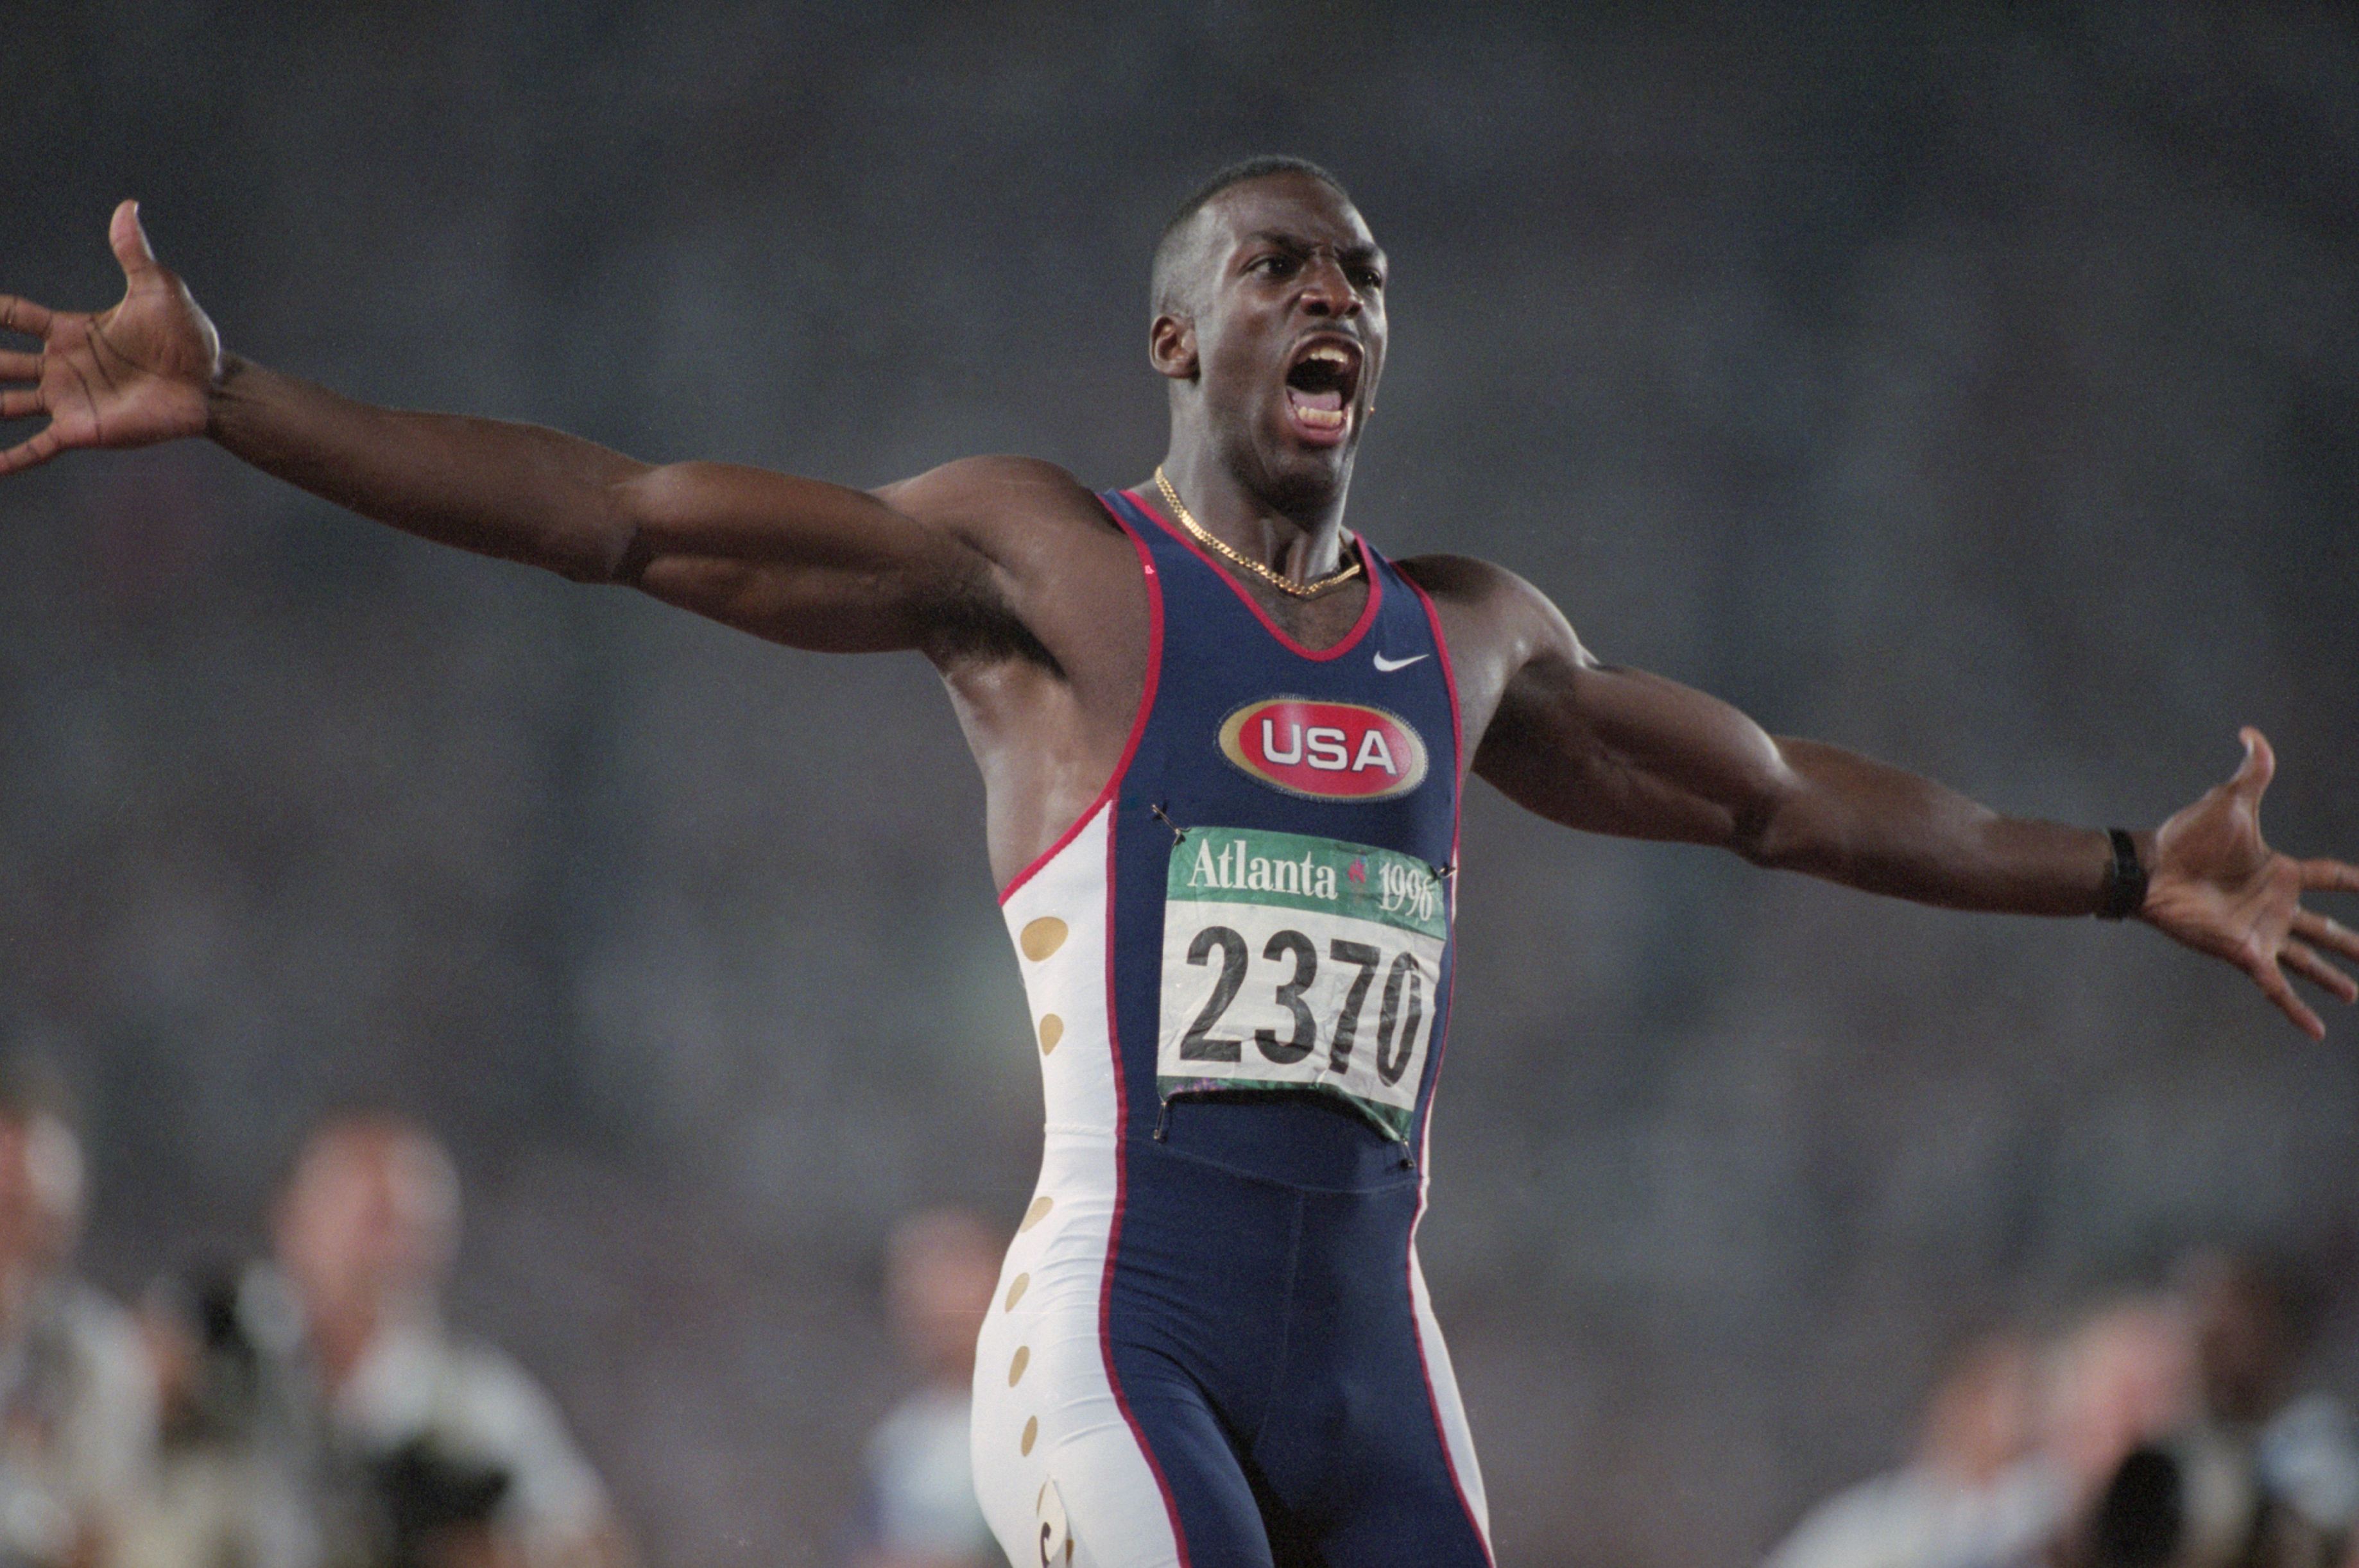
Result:
[[[623,1568],[625,1533],[547,1394],[453,1335],[458,1172],[389,1115],[318,1127],[278,1200],[274,1245],[359,1518],[330,1554],[368,1568]],[[356,1474],[354,1474],[356,1471]]]

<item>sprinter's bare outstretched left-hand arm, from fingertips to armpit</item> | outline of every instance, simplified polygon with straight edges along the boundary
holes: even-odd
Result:
[[[651,467],[578,436],[373,408],[224,354],[132,203],[109,231],[125,295],[97,316],[0,299],[0,417],[50,422],[0,474],[80,446],[210,436],[245,462],[420,538],[630,582],[804,648],[927,648],[995,604],[972,533],[878,495],[760,469]],[[939,486],[937,486],[939,488]]]

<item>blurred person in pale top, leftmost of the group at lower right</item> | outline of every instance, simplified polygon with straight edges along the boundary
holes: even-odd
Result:
[[[2019,1335],[1970,1344],[1934,1384],[1911,1460],[1812,1509],[1765,1568],[2036,1563],[2064,1493],[2036,1455],[2033,1368]]]

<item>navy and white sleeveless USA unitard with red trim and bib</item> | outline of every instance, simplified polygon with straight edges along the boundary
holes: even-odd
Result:
[[[1422,592],[1302,648],[1130,493],[1151,658],[1102,797],[1003,894],[1047,1099],[984,1325],[1017,1563],[1489,1563],[1418,1271],[1460,747]]]

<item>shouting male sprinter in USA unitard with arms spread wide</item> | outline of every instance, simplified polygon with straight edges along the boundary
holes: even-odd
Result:
[[[2151,832],[1993,816],[1599,665],[1555,606],[1342,528],[1385,255],[1297,160],[1224,170],[1156,250],[1170,448],[1095,495],[1021,457],[845,490],[392,413],[219,347],[137,210],[97,316],[0,299],[0,472],[210,436],[429,540],[795,648],[925,653],[984,771],[1047,1080],[1040,1188],[977,1363],[977,1488],[1019,1563],[1486,1563],[1411,1243],[1451,995],[1458,790],[1923,903],[2140,915],[2345,1002],[2359,870],[2260,837],[2269,747]]]

